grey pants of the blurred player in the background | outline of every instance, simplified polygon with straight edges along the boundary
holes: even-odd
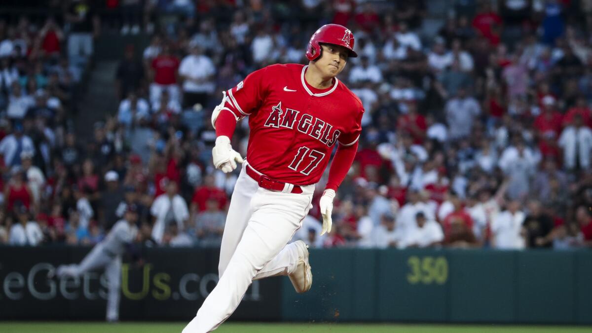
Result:
[[[58,267],[57,277],[80,277],[88,271],[99,268],[105,268],[108,280],[107,321],[117,321],[119,319],[121,290],[121,255],[112,257],[104,251],[102,244],[98,244],[84,257],[79,265],[61,265]]]

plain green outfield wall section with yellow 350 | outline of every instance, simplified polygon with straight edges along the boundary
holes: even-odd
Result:
[[[313,288],[282,281],[289,321],[592,324],[592,252],[311,250]]]

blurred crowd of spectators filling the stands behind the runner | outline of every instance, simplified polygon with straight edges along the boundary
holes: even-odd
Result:
[[[295,239],[592,246],[591,1],[50,7],[55,15],[0,21],[0,244],[95,244],[134,203],[147,243],[219,246],[238,174],[211,165],[221,91],[263,66],[305,63],[311,34],[337,23],[352,30],[360,55],[340,79],[365,107],[361,144],[337,192],[333,232],[319,236],[325,175]],[[118,110],[81,136],[74,92],[105,31],[150,41],[121,50]],[[243,156],[247,138],[242,121],[233,145]]]

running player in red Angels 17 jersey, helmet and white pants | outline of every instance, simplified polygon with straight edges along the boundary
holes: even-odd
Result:
[[[308,249],[287,244],[311,209],[314,184],[337,151],[320,199],[322,233],[331,231],[333,197],[358,149],[362,103],[336,76],[353,52],[353,34],[327,24],[310,39],[307,66],[271,65],[223,92],[212,114],[214,166],[233,171],[240,154],[230,139],[249,116],[249,145],[234,187],[220,249],[217,286],[184,333],[213,331],[239,305],[253,280],[287,275],[297,292],[310,289]]]

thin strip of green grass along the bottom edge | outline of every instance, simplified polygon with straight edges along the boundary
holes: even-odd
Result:
[[[185,323],[0,322],[2,333],[179,333]],[[259,324],[229,322],[216,333],[540,333],[592,332],[590,326],[422,325],[422,324]]]

